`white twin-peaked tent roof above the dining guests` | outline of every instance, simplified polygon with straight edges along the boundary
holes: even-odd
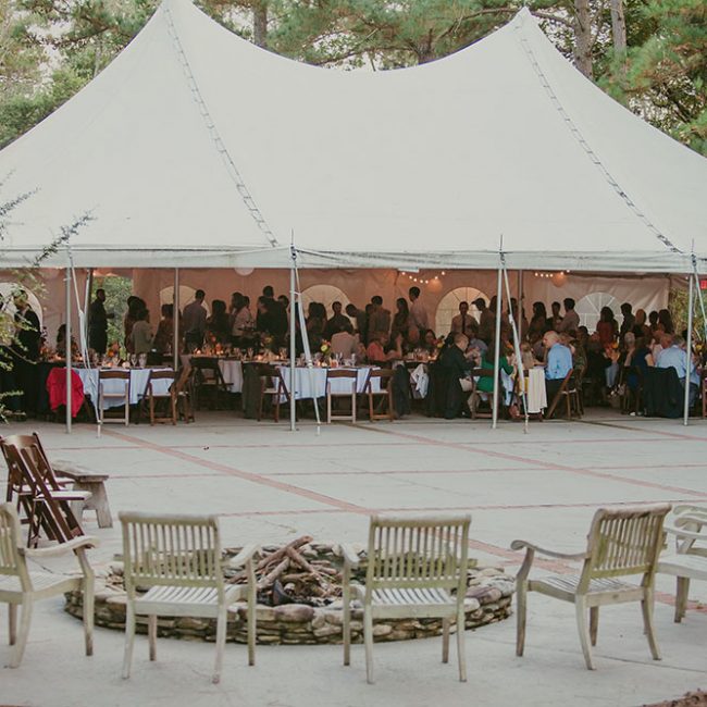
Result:
[[[0,152],[0,266],[62,224],[77,265],[685,272],[707,160],[584,78],[523,10],[456,54],[339,72],[165,0],[88,86]],[[257,204],[257,206],[256,206]],[[258,221],[261,220],[259,224]],[[63,264],[65,256],[54,257]]]

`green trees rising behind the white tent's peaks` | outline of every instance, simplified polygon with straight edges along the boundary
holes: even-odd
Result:
[[[158,0],[0,0],[0,146],[101,71]],[[528,5],[558,49],[631,110],[707,154],[704,0],[200,0],[297,61],[386,70],[473,44]]]

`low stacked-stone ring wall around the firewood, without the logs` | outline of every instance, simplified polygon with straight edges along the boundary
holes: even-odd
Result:
[[[96,625],[125,630],[125,590],[123,566],[113,562],[96,571]],[[469,570],[464,599],[464,628],[479,629],[507,619],[511,613],[514,581],[504,570],[487,567]],[[83,618],[80,591],[66,595],[65,610]],[[317,645],[342,643],[342,601],[334,600],[325,607],[307,604],[284,604],[270,607],[259,604],[256,609],[257,642],[259,644]],[[363,642],[363,611],[355,601],[351,607],[351,641]],[[138,616],[137,632],[147,633],[147,617]],[[455,629],[452,628],[452,631]],[[201,618],[158,618],[158,635],[188,641],[214,641],[216,622]],[[441,619],[385,619],[375,621],[373,636],[376,642],[408,641],[442,634]],[[246,604],[237,603],[228,609],[226,641],[247,643]]]

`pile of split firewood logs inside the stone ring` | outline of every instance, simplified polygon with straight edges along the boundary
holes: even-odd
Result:
[[[263,553],[256,566],[258,603],[268,606],[280,604],[309,604],[326,606],[342,596],[342,573],[331,560],[317,556],[310,543],[312,537],[302,535],[275,550]],[[247,581],[239,571],[228,582]]]

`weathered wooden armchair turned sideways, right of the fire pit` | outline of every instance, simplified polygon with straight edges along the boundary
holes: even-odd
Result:
[[[599,607],[624,601],[641,601],[650,653],[655,660],[660,660],[653,629],[654,581],[663,542],[662,524],[669,510],[669,504],[600,508],[594,514],[586,550],[573,555],[546,550],[526,541],[513,541],[512,549],[525,549],[525,559],[516,580],[516,654],[522,656],[525,645],[528,593],[539,592],[574,604],[582,653],[590,670],[594,670],[592,646],[596,645]],[[535,553],[560,560],[582,561],[582,572],[579,575],[554,574],[529,580]],[[623,581],[625,576],[635,575],[641,576],[640,584]]]

